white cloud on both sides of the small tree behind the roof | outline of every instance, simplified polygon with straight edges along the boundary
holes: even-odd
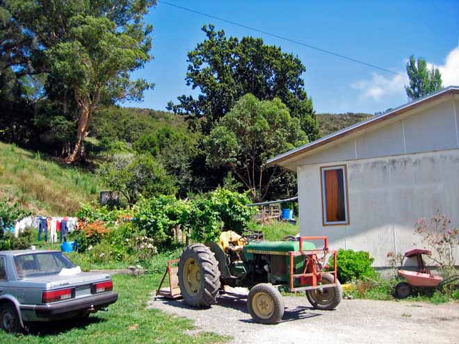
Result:
[[[408,60],[408,59],[407,59]],[[406,64],[406,61],[404,64]],[[428,67],[433,67],[428,63]],[[442,74],[443,86],[459,85],[459,44],[446,56],[444,65],[435,65]],[[386,97],[405,95],[405,84],[408,84],[408,77],[405,70],[396,71],[402,75],[383,75],[378,72],[371,74],[371,79],[362,79],[351,83],[351,87],[360,90],[360,101],[371,99],[373,101],[383,101]]]

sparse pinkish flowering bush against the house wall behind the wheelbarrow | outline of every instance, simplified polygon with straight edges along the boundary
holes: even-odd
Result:
[[[414,235],[421,238],[424,248],[433,251],[430,259],[438,268],[454,270],[459,229],[451,227],[451,220],[446,215],[435,215],[430,218],[430,222],[426,222],[425,218],[417,220]]]

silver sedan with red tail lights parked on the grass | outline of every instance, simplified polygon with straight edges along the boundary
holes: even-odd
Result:
[[[59,251],[0,251],[1,328],[17,332],[26,322],[87,318],[118,300],[110,275],[65,270],[74,268]]]

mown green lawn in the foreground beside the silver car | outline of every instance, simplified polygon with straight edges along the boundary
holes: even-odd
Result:
[[[2,344],[116,344],[116,343],[223,343],[230,338],[211,333],[188,335],[193,322],[170,316],[154,309],[146,309],[152,291],[159,284],[160,275],[129,277],[113,276],[118,302],[108,312],[99,312],[89,320],[52,322],[33,326],[29,334],[4,334]]]

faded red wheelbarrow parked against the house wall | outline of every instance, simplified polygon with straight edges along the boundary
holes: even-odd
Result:
[[[414,288],[433,290],[435,288],[441,288],[445,284],[459,280],[459,275],[443,279],[438,275],[430,273],[430,270],[428,270],[424,260],[422,259],[423,254],[431,256],[432,252],[427,249],[412,249],[411,251],[405,253],[406,258],[416,257],[417,271],[397,270],[398,276],[403,277],[406,280],[395,286],[394,295],[398,299],[404,299],[405,297],[412,295]]]

